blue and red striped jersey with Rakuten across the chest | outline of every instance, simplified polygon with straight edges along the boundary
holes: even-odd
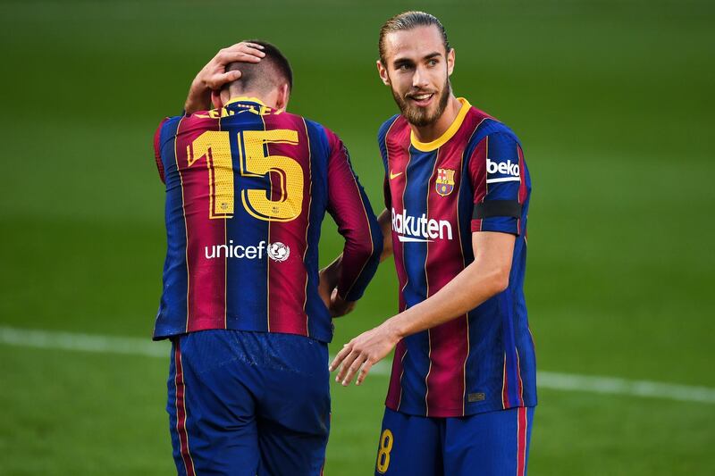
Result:
[[[400,341],[386,405],[403,413],[451,417],[536,405],[523,291],[529,172],[515,134],[459,101],[456,120],[433,142],[418,142],[401,115],[378,134],[400,311],[432,296],[474,261],[476,231],[517,236],[509,288]]]

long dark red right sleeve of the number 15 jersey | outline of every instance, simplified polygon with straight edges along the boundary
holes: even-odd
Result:
[[[348,149],[329,129],[328,213],[345,238],[338,294],[357,301],[372,280],[383,252],[383,234],[373,208],[352,169]]]

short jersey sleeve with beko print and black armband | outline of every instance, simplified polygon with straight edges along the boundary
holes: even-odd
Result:
[[[521,234],[526,200],[524,154],[517,139],[497,132],[483,138],[469,159],[474,189],[472,231]]]

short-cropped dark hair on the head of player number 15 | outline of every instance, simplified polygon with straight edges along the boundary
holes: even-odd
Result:
[[[292,90],[293,71],[290,69],[288,58],[281,53],[281,50],[277,46],[260,39],[248,39],[246,42],[263,46],[265,56],[260,63],[228,64],[226,71],[239,70],[241,73],[240,79],[234,82],[240,84],[243,89],[256,88],[265,91],[275,88],[282,79],[288,83],[289,91]]]

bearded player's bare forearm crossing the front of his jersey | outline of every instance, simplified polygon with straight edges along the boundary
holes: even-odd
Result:
[[[505,277],[503,270],[475,261],[433,296],[391,317],[384,325],[405,338],[471,311],[508,284],[509,275]]]

